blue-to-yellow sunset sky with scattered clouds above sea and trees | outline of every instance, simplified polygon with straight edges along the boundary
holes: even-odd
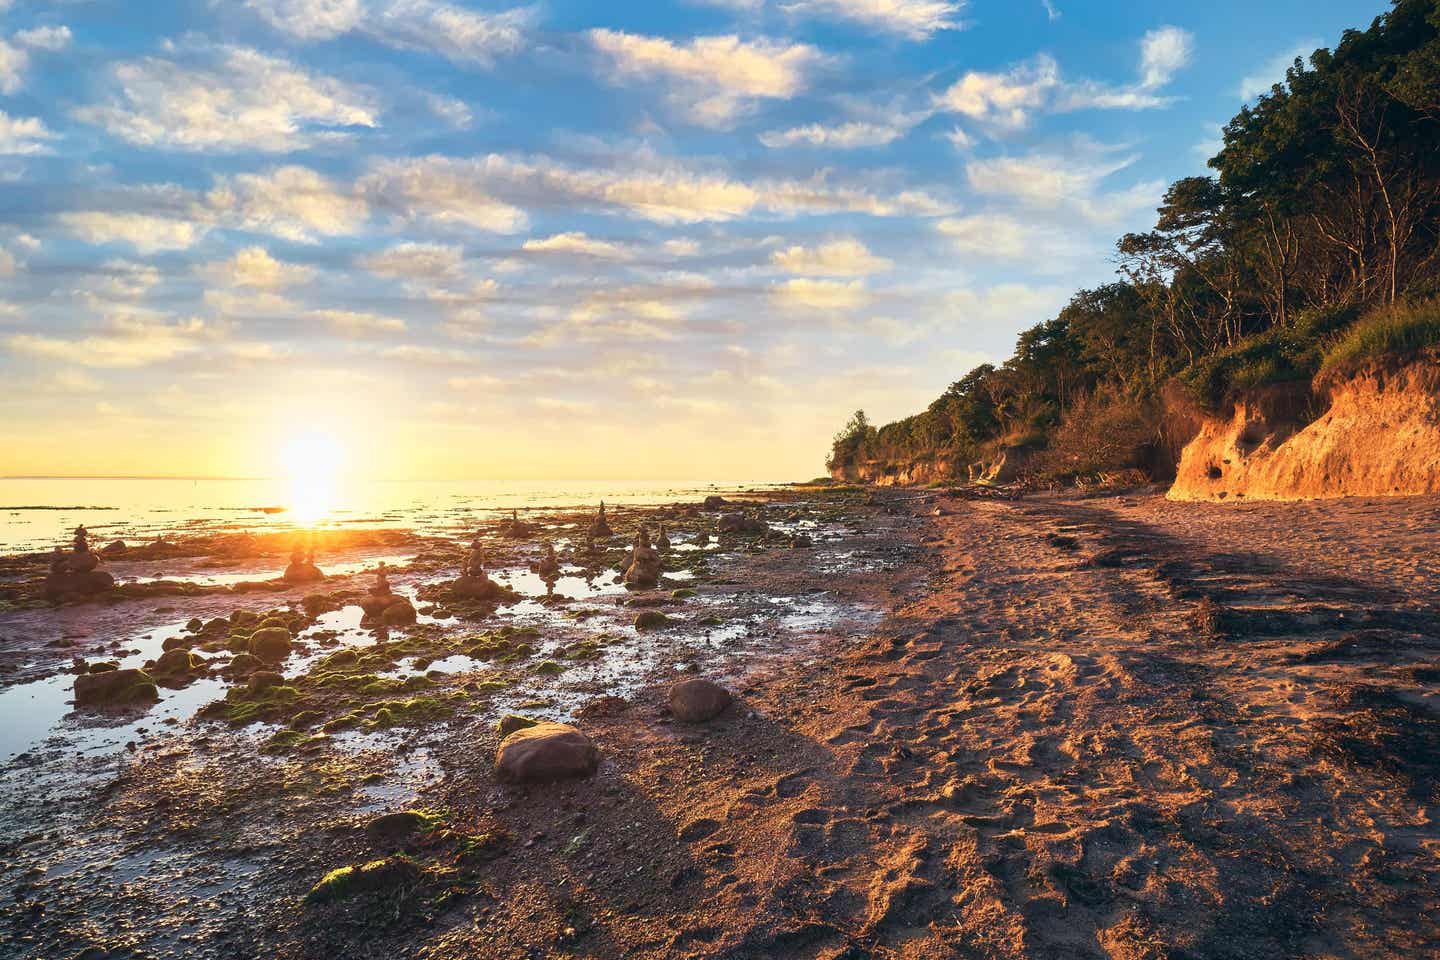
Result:
[[[0,0],[0,475],[801,479],[1382,0]]]

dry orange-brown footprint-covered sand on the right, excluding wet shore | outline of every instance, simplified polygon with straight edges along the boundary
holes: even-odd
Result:
[[[1436,502],[955,508],[865,649],[703,731],[596,720],[429,956],[1440,951]]]

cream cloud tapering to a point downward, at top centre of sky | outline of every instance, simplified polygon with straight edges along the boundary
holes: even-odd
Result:
[[[615,79],[671,83],[670,99],[687,119],[727,127],[756,99],[789,99],[805,89],[824,55],[805,43],[703,36],[688,43],[662,37],[590,30],[592,46],[613,68]]]

